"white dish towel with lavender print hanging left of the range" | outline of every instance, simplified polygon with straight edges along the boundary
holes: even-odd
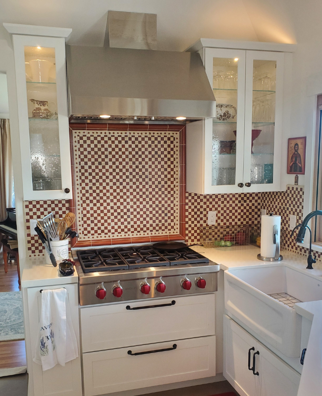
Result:
[[[43,290],[34,362],[43,371],[78,357],[66,289]]]

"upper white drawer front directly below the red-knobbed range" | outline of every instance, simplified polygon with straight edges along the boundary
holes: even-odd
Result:
[[[83,352],[211,336],[215,294],[81,308],[81,331]]]

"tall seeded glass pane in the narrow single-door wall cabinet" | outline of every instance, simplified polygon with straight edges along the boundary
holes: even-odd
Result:
[[[25,47],[33,190],[61,190],[55,49]]]

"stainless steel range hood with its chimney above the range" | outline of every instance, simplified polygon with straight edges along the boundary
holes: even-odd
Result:
[[[215,117],[198,53],[158,51],[157,15],[108,11],[104,47],[66,46],[71,121]]]

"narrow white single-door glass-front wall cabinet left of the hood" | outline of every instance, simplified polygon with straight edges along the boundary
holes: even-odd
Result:
[[[65,37],[71,29],[4,27],[14,49],[23,199],[70,199]]]

